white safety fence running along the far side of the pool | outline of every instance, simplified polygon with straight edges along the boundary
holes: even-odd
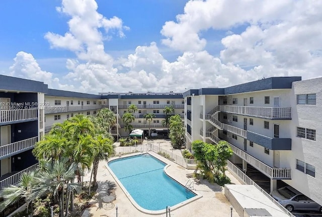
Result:
[[[169,151],[167,149],[160,148],[159,146],[152,143],[137,146],[118,146],[115,148],[115,156],[122,156],[136,152],[146,153],[148,151],[155,152],[156,154],[161,155],[185,168],[189,168],[189,166],[197,164],[195,159],[184,158],[182,155],[173,153],[173,150]]]

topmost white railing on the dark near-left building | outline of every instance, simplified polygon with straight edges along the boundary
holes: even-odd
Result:
[[[0,110],[0,123],[23,121],[37,118],[37,108],[28,108],[22,110]]]

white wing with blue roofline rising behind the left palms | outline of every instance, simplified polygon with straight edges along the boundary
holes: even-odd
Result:
[[[45,133],[56,123],[72,118],[74,115],[96,115],[106,107],[106,100],[100,95],[48,89],[45,94]]]

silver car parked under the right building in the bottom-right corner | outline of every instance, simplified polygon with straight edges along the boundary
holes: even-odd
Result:
[[[279,188],[273,191],[271,195],[289,211],[314,210],[322,212],[321,205],[314,202],[291,186]]]

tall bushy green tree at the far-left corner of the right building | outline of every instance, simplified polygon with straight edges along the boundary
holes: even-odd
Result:
[[[185,143],[185,130],[180,115],[174,115],[170,118],[170,139],[173,148],[181,148]]]

